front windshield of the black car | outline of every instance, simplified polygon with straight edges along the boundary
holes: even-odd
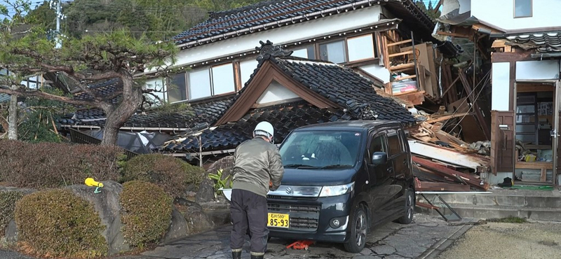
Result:
[[[293,132],[280,146],[286,168],[337,169],[356,164],[360,132]]]

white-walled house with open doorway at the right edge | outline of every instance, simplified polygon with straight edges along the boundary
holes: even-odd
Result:
[[[442,0],[435,36],[462,38],[491,66],[487,111],[491,168],[487,181],[560,182],[561,20],[555,0]],[[512,10],[512,11],[503,11]]]

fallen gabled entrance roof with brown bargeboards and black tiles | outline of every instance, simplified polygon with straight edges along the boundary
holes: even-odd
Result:
[[[236,94],[234,102],[200,136],[170,141],[161,151],[178,153],[224,152],[252,137],[261,121],[276,129],[280,143],[297,127],[337,120],[397,120],[415,122],[412,114],[391,98],[376,93],[373,84],[352,69],[331,62],[291,57],[291,51],[267,41],[258,48],[259,61],[250,80]],[[259,103],[271,85],[280,83],[291,97],[279,102]],[[199,138],[201,142],[199,142]]]

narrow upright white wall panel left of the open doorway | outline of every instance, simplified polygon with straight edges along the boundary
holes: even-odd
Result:
[[[511,64],[509,62],[493,63],[491,84],[491,109],[494,111],[508,111],[511,103],[510,94]]]

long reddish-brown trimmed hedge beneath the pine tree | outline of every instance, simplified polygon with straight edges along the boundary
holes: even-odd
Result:
[[[0,178],[20,188],[59,188],[97,181],[118,181],[119,147],[0,140]]]

